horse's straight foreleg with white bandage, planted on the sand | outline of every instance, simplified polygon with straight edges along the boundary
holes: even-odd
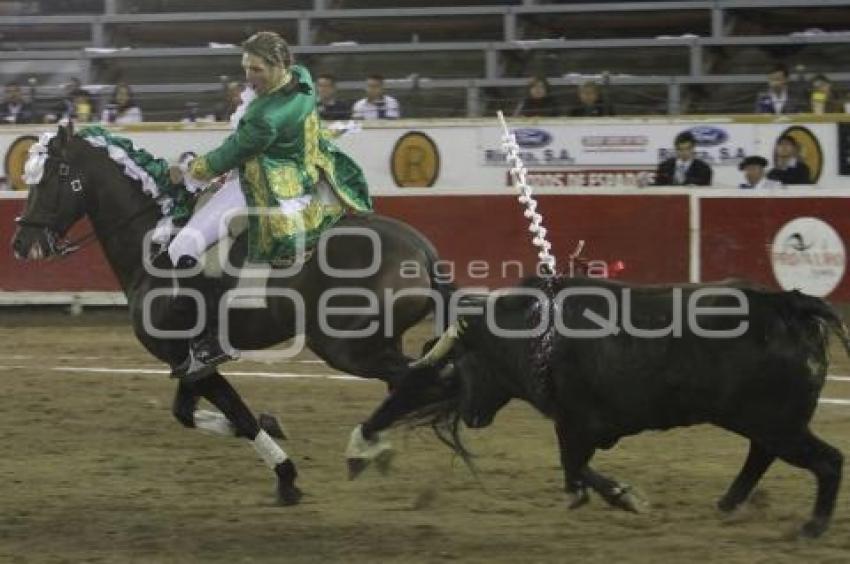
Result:
[[[260,428],[251,410],[218,372],[194,384],[196,391],[216,406],[229,419],[239,436],[249,438],[260,458],[277,475],[278,502],[293,505],[301,499],[301,490],[295,485],[295,464],[268,433]]]

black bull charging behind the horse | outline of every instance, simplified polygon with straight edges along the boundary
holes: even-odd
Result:
[[[587,279],[534,279],[522,289],[541,292],[490,296],[481,304],[489,322],[483,313],[461,316],[460,335],[444,336],[421,361],[420,379],[406,387],[431,403],[411,400],[406,407],[419,405],[408,422],[449,417],[482,427],[510,399],[523,399],[555,422],[572,506],[587,501],[589,487],[628,509],[638,507],[633,492],[590,468],[596,449],[649,429],[711,423],[750,440],[721,510],[743,502],[780,458],[817,478],[814,514],[802,533],[827,528],[843,459],[809,422],[826,379],[828,336],[839,335],[848,351],[850,340],[824,301],[743,286]],[[698,309],[706,307],[725,309]],[[517,337],[496,327],[543,333]]]

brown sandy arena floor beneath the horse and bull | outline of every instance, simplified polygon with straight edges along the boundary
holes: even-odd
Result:
[[[709,427],[647,433],[595,459],[651,500],[645,515],[594,498],[568,511],[551,425],[514,403],[466,432],[478,483],[426,431],[395,431],[393,472],[346,477],[351,428],[383,395],[330,379],[326,366],[233,363],[256,411],[277,414],[301,472],[297,507],[272,504],[273,475],[245,441],[187,430],[174,382],[116,315],[0,310],[2,562],[848,562],[850,488],[818,541],[794,539],[814,481],[776,463],[731,517],[714,508],[746,453]],[[425,331],[411,338],[421,341]],[[831,373],[850,374],[836,354]],[[825,397],[850,399],[850,382]],[[815,428],[850,454],[850,405],[825,404]]]

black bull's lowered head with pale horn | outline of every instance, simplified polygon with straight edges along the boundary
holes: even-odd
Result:
[[[486,351],[479,350],[478,323],[459,319],[436,341],[431,349],[412,367],[441,368],[444,378],[456,379],[459,384],[458,411],[467,427],[476,429],[493,422],[496,413],[510,400],[508,387],[499,375],[504,367],[491,366]]]

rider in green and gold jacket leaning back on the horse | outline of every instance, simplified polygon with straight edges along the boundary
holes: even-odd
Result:
[[[256,96],[245,98],[244,114],[237,112],[236,129],[221,146],[183,169],[187,187],[227,174],[224,184],[154,259],[155,267],[200,270],[201,255],[226,233],[225,218],[239,210],[248,216],[248,259],[260,262],[308,248],[348,209],[372,210],[363,172],[321,130],[313,80],[293,63],[286,41],[262,31],[242,48]],[[180,284],[200,291],[208,304],[207,325],[175,375],[199,379],[232,357],[217,331],[220,285],[203,273],[185,274]]]

